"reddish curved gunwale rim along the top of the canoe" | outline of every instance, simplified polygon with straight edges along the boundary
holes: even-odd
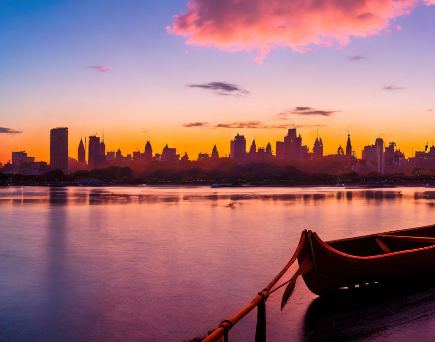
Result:
[[[354,238],[337,239],[337,240],[330,240],[330,241],[323,241],[322,239],[320,239],[320,237],[318,236],[318,234],[316,232],[313,232],[313,236],[314,236],[314,239],[316,239],[316,241],[323,248],[325,248],[328,251],[334,253],[336,256],[344,257],[344,259],[347,259],[347,260],[359,261],[359,260],[372,260],[372,259],[388,259],[388,258],[391,258],[391,257],[394,257],[394,256],[401,256],[401,255],[407,254],[407,253],[415,253],[415,252],[419,252],[419,251],[426,251],[426,250],[429,250],[429,249],[435,249],[435,244],[432,245],[432,246],[427,246],[427,247],[421,247],[421,248],[415,248],[415,249],[406,249],[406,250],[403,250],[403,251],[391,252],[391,253],[385,253],[385,254],[379,254],[379,255],[374,255],[374,256],[354,256],[354,255],[351,255],[351,254],[343,253],[343,252],[335,249],[334,247],[331,247],[329,245],[329,243],[340,242],[340,241],[347,241],[347,240],[353,240],[353,239],[361,239],[361,238],[370,238],[370,237],[376,237],[376,236],[380,236],[380,235],[388,235],[388,234],[392,234],[392,233],[412,231],[412,230],[418,230],[418,229],[429,228],[429,227],[435,227],[435,225],[434,224],[430,224],[430,225],[416,227],[416,228],[392,230],[392,231],[384,232],[384,233],[368,234],[368,235],[362,235],[362,236],[358,236],[358,237],[354,237]]]

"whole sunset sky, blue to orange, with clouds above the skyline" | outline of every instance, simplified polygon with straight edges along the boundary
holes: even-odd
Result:
[[[379,135],[411,156],[435,137],[435,0],[0,0],[0,162],[68,154],[97,134],[191,159],[298,129],[361,157]]]

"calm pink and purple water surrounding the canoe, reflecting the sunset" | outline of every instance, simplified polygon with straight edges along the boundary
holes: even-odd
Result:
[[[182,341],[248,304],[303,229],[432,224],[435,191],[8,187],[0,218],[0,341]],[[435,290],[349,306],[300,278],[281,312],[283,291],[266,304],[268,341],[434,340]],[[255,319],[231,341],[253,341]]]

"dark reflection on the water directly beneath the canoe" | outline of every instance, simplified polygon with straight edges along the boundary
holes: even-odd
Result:
[[[354,292],[315,299],[305,313],[302,340],[384,340],[414,323],[424,324],[435,313],[433,280],[423,288],[414,284],[395,291],[384,288]]]

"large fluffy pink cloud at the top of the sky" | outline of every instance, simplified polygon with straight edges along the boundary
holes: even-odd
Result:
[[[340,48],[351,36],[380,32],[398,16],[435,0],[191,0],[188,11],[174,16],[169,33],[186,44],[221,51],[253,51],[259,64],[276,47],[315,51]]]

